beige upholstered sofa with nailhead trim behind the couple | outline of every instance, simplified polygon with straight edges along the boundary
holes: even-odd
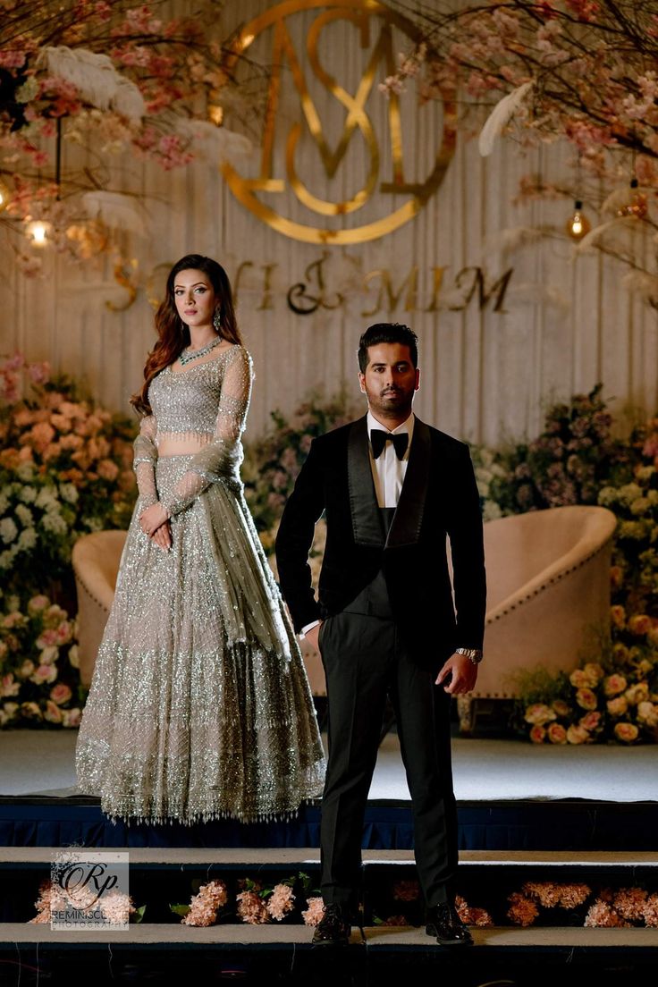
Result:
[[[575,666],[590,628],[610,609],[610,557],[616,518],[605,507],[569,506],[515,514],[484,525],[487,570],[485,659],[471,700],[510,699],[514,672]],[[110,613],[124,531],[85,535],[73,548],[78,590],[80,673],[89,685]],[[320,655],[302,652],[314,695],[326,695]]]

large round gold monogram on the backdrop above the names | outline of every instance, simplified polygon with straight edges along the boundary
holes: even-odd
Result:
[[[304,24],[293,21],[293,18],[300,17],[305,19]],[[293,40],[299,38],[300,30],[306,33],[306,53],[314,77],[311,88],[304,74],[303,58],[298,54]],[[348,91],[347,82],[344,86],[340,85],[327,71],[321,57],[323,52],[325,61],[328,60],[340,38],[345,37],[345,31],[358,33],[359,49],[364,52],[365,65],[361,66],[361,77],[356,87],[351,87],[355,88],[354,95]],[[441,184],[453,156],[455,111],[451,103],[444,101],[439,111],[441,118],[438,119],[436,101],[419,107],[413,121],[413,148],[404,160],[406,135],[399,97],[397,93],[392,93],[387,106],[375,84],[378,78],[383,80],[395,74],[394,40],[402,36],[412,41],[419,40],[414,25],[378,0],[284,0],[256,17],[241,31],[231,56],[234,70],[238,60],[257,38],[266,37],[270,43],[268,62],[272,69],[260,145],[260,168],[256,177],[245,177],[231,165],[225,164],[222,174],[233,194],[258,219],[279,233],[305,243],[355,244],[375,240],[397,230],[422,209]],[[301,46],[299,42],[298,45]],[[346,74],[350,70],[351,66],[345,66]],[[284,86],[296,92],[300,118],[290,119],[289,100],[285,107],[287,118],[282,112],[281,92]],[[323,127],[318,110],[317,104],[323,99],[323,90],[339,105],[337,109],[341,114],[342,131],[337,142],[335,103],[327,110],[329,116],[333,116],[327,121],[327,127]],[[411,99],[409,95],[406,109],[415,109]],[[377,101],[376,105],[374,101]],[[328,99],[323,100],[323,105],[328,103]],[[367,106],[371,114],[374,110],[373,115],[387,120],[387,125],[380,129],[388,132],[380,134],[379,139]],[[422,114],[427,116],[426,120]],[[408,122],[408,118],[404,122]],[[308,141],[306,144],[304,141],[304,126],[317,149],[313,155],[306,146]],[[411,127],[406,129],[412,130]],[[334,150],[330,148],[328,130],[334,134]],[[285,131],[285,140],[284,147],[280,148],[283,142],[277,142],[276,138],[282,131]],[[363,158],[360,161],[354,155],[349,158],[352,138],[357,133],[366,149],[365,167]],[[408,142],[411,142],[410,139]],[[437,150],[435,154],[430,151],[427,160],[428,143],[432,143]],[[317,152],[324,166],[324,176],[317,168]],[[350,169],[347,168],[348,158]],[[413,166],[409,166],[410,158],[413,158]],[[408,173],[412,169],[417,172],[423,168],[424,160],[427,160],[424,179],[408,181],[405,167]],[[320,173],[326,190],[324,196],[310,188],[310,178],[307,181],[302,179],[302,169],[306,175],[315,175],[316,178]],[[350,175],[346,176],[348,170]],[[361,177],[356,178],[359,172]],[[360,183],[360,188],[343,192],[349,181],[355,185]],[[336,195],[332,200],[327,190],[334,189]],[[294,197],[289,191],[293,192]],[[283,214],[284,209],[287,215]],[[359,211],[363,221],[361,225],[356,225],[347,217],[360,219],[357,215]],[[318,224],[318,217],[324,218],[323,225]]]

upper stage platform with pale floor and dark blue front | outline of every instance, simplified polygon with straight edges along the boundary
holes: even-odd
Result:
[[[75,731],[0,731],[2,847],[314,847],[320,809],[286,822],[195,826],[111,822],[75,790]],[[658,851],[656,747],[536,746],[455,737],[455,792],[463,850]],[[399,741],[382,744],[363,846],[412,847]]]

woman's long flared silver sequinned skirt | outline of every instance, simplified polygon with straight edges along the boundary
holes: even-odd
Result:
[[[187,456],[161,458],[166,493]],[[283,817],[322,793],[302,656],[242,492],[215,483],[165,552],[137,501],[76,750],[78,788],[112,818]]]

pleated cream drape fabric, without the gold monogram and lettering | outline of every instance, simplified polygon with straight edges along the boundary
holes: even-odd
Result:
[[[225,16],[239,13],[244,21],[266,6],[246,0],[237,11],[237,5],[229,4]],[[289,25],[302,56],[301,41],[314,16],[307,13]],[[358,33],[340,23],[331,31],[330,70],[354,92],[364,64]],[[284,78],[282,92],[285,115],[277,131],[277,160],[287,127],[301,118],[289,77]],[[313,95],[334,147],[344,110],[320,87]],[[376,87],[367,109],[377,132],[384,133],[388,108]],[[409,93],[403,97],[402,112],[405,171],[413,178],[414,172],[426,174],[436,148],[433,127],[438,126],[440,110],[417,109]],[[235,121],[227,122],[239,128]],[[257,134],[258,121],[251,123]],[[64,168],[75,153],[65,146]],[[561,230],[571,210],[569,200],[521,205],[512,200],[522,175],[537,172],[551,181],[567,177],[568,157],[569,152],[557,146],[526,156],[516,145],[500,142],[491,157],[482,160],[475,142],[460,138],[443,184],[414,220],[380,240],[344,248],[299,243],[263,225],[224,185],[215,162],[163,172],[155,165],[126,160],[114,166],[114,177],[116,187],[145,196],[148,237],[126,239],[128,256],[138,262],[141,284],[157,266],[190,252],[215,257],[232,279],[238,266],[252,262],[243,272],[238,309],[256,364],[248,435],[266,428],[271,409],[291,412],[311,388],[323,386],[330,394],[347,382],[358,398],[355,350],[360,333],[372,322],[401,321],[420,338],[417,413],[459,437],[495,443],[506,436],[532,434],[548,401],[589,390],[599,380],[618,411],[633,405],[652,413],[658,404],[656,312],[621,287],[623,267],[599,255],[574,261],[565,239],[543,239],[509,254],[501,252],[499,240],[496,246],[500,231],[509,227],[552,225]],[[329,180],[303,126],[298,162],[316,194],[335,198],[336,190],[347,194],[360,186],[364,144],[358,135],[352,139],[342,168]],[[418,162],[422,167],[416,167]],[[247,173],[246,164],[237,164]],[[256,172],[256,166],[249,168]],[[380,181],[388,180],[387,168],[383,152]],[[292,193],[286,201],[289,215],[304,214]],[[382,214],[388,208],[388,202],[376,197],[364,211]],[[586,211],[596,218],[591,209]],[[361,222],[358,214],[350,221]],[[30,358],[48,359],[56,370],[83,378],[110,408],[127,410],[154,339],[153,310],[144,287],[125,311],[111,312],[105,302],[122,303],[127,296],[113,279],[110,258],[100,266],[74,266],[49,256],[45,276],[29,279],[17,269],[6,244],[1,252],[0,350],[20,349]],[[307,266],[324,253],[328,301],[336,290],[346,300],[335,309],[295,315],[286,293],[306,280]],[[265,292],[267,265],[272,267]],[[363,291],[362,275],[387,268],[399,290],[412,266],[418,267],[415,311],[404,311],[402,290],[395,311],[385,305],[364,316],[364,310],[375,306],[379,281]],[[453,302],[455,275],[461,268],[480,266],[490,283],[513,267],[504,312],[492,311],[493,300],[480,310],[477,292],[463,311],[423,311],[432,296],[432,268],[438,266],[447,268],[439,297]],[[163,269],[157,278],[161,287]],[[309,283],[310,294],[315,287]],[[262,307],[265,294],[269,308]]]

